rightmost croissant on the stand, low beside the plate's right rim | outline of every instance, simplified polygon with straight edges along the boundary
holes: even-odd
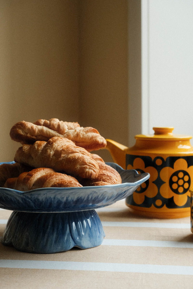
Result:
[[[102,162],[99,162],[98,165],[98,177],[94,179],[82,179],[81,184],[83,186],[104,186],[122,183],[120,174],[114,168]]]

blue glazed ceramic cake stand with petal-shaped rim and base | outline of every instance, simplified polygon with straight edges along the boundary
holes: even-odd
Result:
[[[150,177],[149,173],[106,164],[120,173],[122,184],[28,192],[0,188],[0,208],[13,211],[2,243],[19,251],[43,254],[102,244],[105,234],[95,209],[125,199]]]

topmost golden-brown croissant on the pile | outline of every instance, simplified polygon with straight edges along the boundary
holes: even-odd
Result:
[[[106,147],[105,138],[93,127],[80,127],[78,123],[59,121],[57,118],[49,121],[38,119],[34,123],[20,121],[10,130],[11,139],[22,144],[32,144],[36,140],[48,141],[54,136],[68,138],[87,151]]]

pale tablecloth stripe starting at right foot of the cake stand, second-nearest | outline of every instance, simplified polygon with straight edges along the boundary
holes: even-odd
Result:
[[[191,243],[191,242],[154,241],[154,240],[104,239],[102,242],[102,245],[106,245],[106,246],[193,248],[193,242]]]

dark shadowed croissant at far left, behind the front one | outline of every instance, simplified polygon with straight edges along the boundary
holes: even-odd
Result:
[[[32,167],[25,166],[19,163],[1,164],[0,165],[0,187],[3,187],[8,178],[18,177],[25,171],[31,171]]]

